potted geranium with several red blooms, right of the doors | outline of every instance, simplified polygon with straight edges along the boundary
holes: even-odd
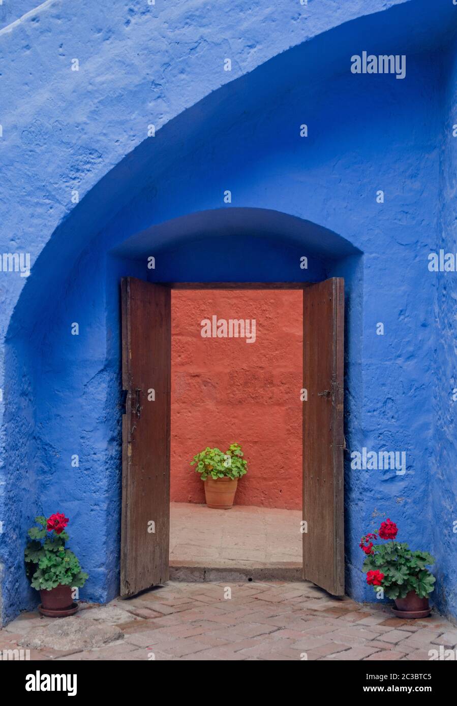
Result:
[[[397,533],[397,525],[388,518],[379,530],[362,537],[367,583],[376,592],[393,598],[396,607],[392,612],[398,618],[425,618],[430,614],[429,594],[435,582],[427,566],[435,560],[428,551],[412,551],[405,542],[395,542]],[[372,539],[378,537],[388,540],[388,544],[373,544]]]

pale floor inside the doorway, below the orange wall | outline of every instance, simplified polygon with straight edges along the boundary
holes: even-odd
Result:
[[[170,505],[170,560],[206,566],[302,565],[301,510]]]

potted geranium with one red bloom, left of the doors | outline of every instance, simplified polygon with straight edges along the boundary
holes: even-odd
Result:
[[[40,591],[38,610],[52,617],[72,615],[78,610],[72,590],[81,588],[88,574],[81,571],[73,551],[65,548],[69,518],[55,513],[47,519],[42,515],[35,517],[35,522],[38,527],[28,530],[30,542],[25,547],[25,562],[32,587]]]

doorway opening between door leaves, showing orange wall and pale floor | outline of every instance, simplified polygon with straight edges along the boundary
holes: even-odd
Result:
[[[172,290],[172,578],[302,575],[302,308],[299,289]],[[232,443],[247,474],[209,508],[189,462]]]

